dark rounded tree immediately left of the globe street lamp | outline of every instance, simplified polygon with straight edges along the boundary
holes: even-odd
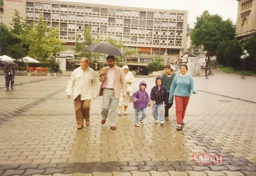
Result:
[[[237,39],[234,39],[228,43],[225,50],[225,58],[229,66],[237,70],[241,66],[241,53],[242,47],[238,43]]]

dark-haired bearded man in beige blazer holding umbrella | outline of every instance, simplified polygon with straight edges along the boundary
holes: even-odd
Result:
[[[123,90],[123,98],[125,98],[126,82],[125,74],[122,68],[115,65],[115,57],[108,55],[107,57],[108,66],[103,67],[100,70],[99,81],[102,82],[100,85],[99,96],[102,97],[101,107],[101,124],[105,124],[107,118],[109,118],[110,128],[116,130],[116,115],[119,98],[121,96],[121,87]],[[109,109],[111,108],[110,114]],[[108,116],[109,114],[109,116]]]

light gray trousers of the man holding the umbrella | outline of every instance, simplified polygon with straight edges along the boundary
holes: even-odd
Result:
[[[108,118],[110,127],[116,126],[116,115],[119,99],[115,98],[114,90],[104,89],[102,96],[101,116],[102,119]],[[110,112],[109,109],[111,108]]]

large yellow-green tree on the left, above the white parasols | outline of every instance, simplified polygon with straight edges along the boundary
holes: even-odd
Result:
[[[33,25],[25,34],[20,34],[19,38],[22,44],[29,45],[29,56],[36,59],[41,59],[43,63],[48,62],[51,53],[56,56],[66,48],[62,46],[62,41],[58,39],[59,28],[47,27],[47,22],[44,22],[42,14],[40,14],[37,25]]]

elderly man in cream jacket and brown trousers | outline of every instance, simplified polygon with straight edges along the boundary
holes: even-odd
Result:
[[[80,58],[80,67],[71,74],[67,83],[67,98],[73,93],[77,129],[90,125],[90,103],[98,96],[98,82],[95,71],[89,67],[87,58]]]

